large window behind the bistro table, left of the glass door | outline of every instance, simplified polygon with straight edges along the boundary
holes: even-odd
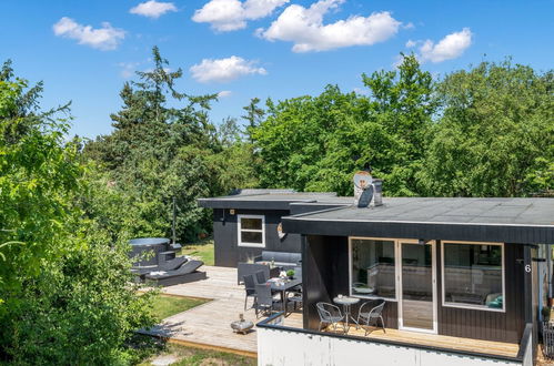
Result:
[[[396,298],[394,241],[351,238],[351,294]]]

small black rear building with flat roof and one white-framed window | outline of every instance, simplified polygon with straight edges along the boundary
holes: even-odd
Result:
[[[281,231],[283,216],[352,204],[336,193],[299,193],[293,190],[239,190],[226,196],[200,199],[213,210],[216,266],[236,267],[262,251],[300,253],[300,234]]]

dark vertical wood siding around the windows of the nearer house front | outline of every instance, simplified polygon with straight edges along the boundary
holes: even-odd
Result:
[[[442,306],[441,245],[436,247],[439,334],[475,339],[520,343],[524,319],[524,246],[504,245],[505,313]],[[304,327],[318,329],[318,302],[332,303],[349,293],[347,237],[309,235],[303,244],[305,288]],[[361,303],[363,303],[362,301]],[[360,303],[360,304],[361,304]],[[352,307],[357,314],[357,306]],[[397,303],[387,302],[383,312],[386,327],[397,328]]]

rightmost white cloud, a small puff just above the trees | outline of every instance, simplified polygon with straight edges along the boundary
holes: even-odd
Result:
[[[426,40],[420,47],[420,59],[422,62],[442,62],[459,58],[471,45],[473,33],[469,28],[454,32],[443,38],[439,43]],[[406,44],[407,45],[407,44]]]

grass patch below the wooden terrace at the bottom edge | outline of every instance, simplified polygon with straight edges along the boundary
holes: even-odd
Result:
[[[155,338],[149,339],[149,337],[147,337],[137,339],[135,342],[140,342],[139,346],[142,348],[142,358],[139,360],[139,365],[141,366],[153,365],[152,362],[158,357],[173,357],[175,362],[171,365],[175,366],[256,365],[255,358],[218,350],[167,344],[163,340]]]

